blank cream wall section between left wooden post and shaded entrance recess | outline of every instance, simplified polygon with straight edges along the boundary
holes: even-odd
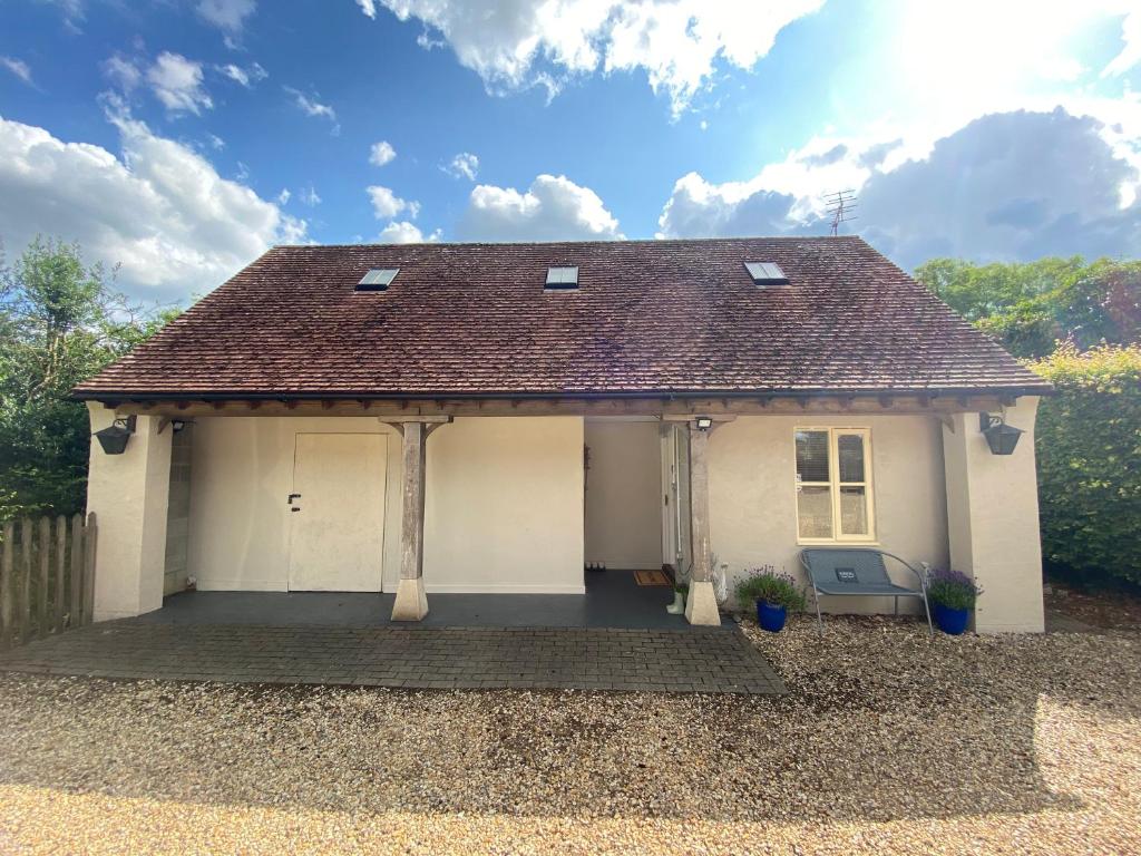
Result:
[[[582,592],[582,446],[580,417],[461,418],[432,433],[424,509],[429,596]]]

